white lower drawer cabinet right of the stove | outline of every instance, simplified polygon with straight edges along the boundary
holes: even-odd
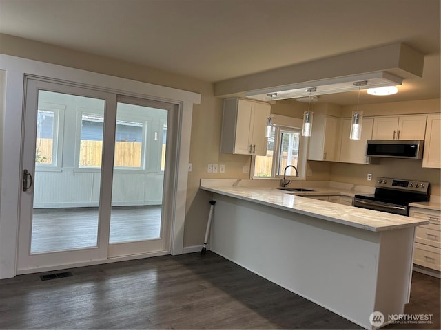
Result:
[[[440,271],[441,212],[412,207],[409,216],[430,221],[428,225],[421,225],[416,228],[413,263]]]

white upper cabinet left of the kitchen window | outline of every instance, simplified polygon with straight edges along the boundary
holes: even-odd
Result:
[[[266,155],[265,126],[271,105],[227,98],[223,102],[221,153]]]

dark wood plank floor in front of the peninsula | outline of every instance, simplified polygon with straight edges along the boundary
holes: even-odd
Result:
[[[0,280],[0,329],[360,329],[213,252],[70,271]],[[415,273],[407,307],[440,329],[440,280]]]

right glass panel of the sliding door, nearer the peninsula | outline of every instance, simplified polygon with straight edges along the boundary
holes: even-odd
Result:
[[[161,239],[167,113],[116,104],[111,244]]]

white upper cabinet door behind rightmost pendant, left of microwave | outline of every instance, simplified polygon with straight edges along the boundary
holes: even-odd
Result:
[[[351,140],[351,120],[342,120],[342,143],[340,146],[339,162],[368,164],[366,157],[367,140],[372,137],[373,118],[363,118],[361,139]]]

